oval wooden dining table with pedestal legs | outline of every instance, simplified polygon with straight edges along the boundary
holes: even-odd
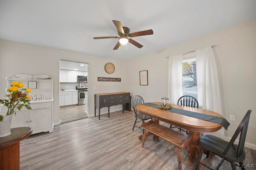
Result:
[[[147,104],[140,104],[136,106],[136,110],[138,113],[142,115],[146,115],[148,117],[152,117],[152,120],[154,123],[159,123],[159,121],[166,122],[168,124],[174,125],[176,127],[180,127],[183,129],[188,130],[188,135],[192,136],[192,141],[190,142],[190,152],[191,156],[194,160],[197,159],[197,156],[200,152],[200,147],[198,146],[198,140],[200,139],[200,135],[202,133],[210,133],[218,131],[222,128],[222,124],[220,123],[214,123],[212,121],[206,121],[203,119],[199,119],[196,117],[191,117],[188,115],[183,115],[180,113],[174,113],[172,112],[172,109],[165,110],[165,109],[159,109],[157,107],[152,107],[150,105],[158,106],[159,104],[162,104],[161,102],[150,102]],[[173,110],[183,110],[183,111],[190,111],[191,113],[198,113],[206,116],[212,116],[217,118],[223,118],[222,115],[219,113],[216,113],[214,111],[206,110],[206,109],[200,109],[196,107],[188,107],[188,106],[180,106],[176,104],[168,104],[170,105]],[[223,118],[224,119],[224,118]],[[224,119],[226,121],[226,119]],[[226,121],[227,122],[227,121]],[[229,125],[229,123],[227,122]],[[228,126],[227,125],[227,126]],[[227,127],[226,127],[227,128]],[[182,133],[182,132],[181,132]],[[147,133],[146,137],[150,136],[151,133]],[[139,136],[139,139],[142,140],[143,135]]]

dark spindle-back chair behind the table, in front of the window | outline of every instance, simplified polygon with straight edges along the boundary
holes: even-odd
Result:
[[[181,106],[189,106],[189,107],[196,107],[196,108],[199,107],[198,101],[196,100],[196,98],[194,98],[192,96],[181,96],[178,99],[177,104],[181,105]],[[176,126],[174,126],[174,127],[176,127]],[[172,124],[170,125],[170,128],[174,128],[174,127],[172,127]],[[176,128],[180,129],[180,131],[185,131],[186,134],[188,135],[188,130],[181,129],[180,127],[176,127]]]

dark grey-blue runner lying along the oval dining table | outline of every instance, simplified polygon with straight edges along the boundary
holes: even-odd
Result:
[[[153,104],[153,103],[144,103],[142,105],[158,108],[158,104]],[[174,108],[174,107],[172,107],[172,109],[169,109],[167,111],[171,111],[171,112],[178,113],[178,114],[181,114],[181,115],[186,115],[186,116],[189,116],[189,117],[194,117],[194,118],[197,118],[197,119],[211,121],[211,122],[214,122],[214,123],[219,123],[226,130],[228,130],[228,126],[230,125],[230,123],[223,117],[206,115],[206,114],[197,113],[197,112],[194,112],[194,111],[183,110],[183,109],[178,109],[178,108]]]

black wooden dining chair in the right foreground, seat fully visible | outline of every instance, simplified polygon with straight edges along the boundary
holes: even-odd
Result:
[[[236,166],[238,166],[235,162],[239,162],[239,168],[244,170],[245,168],[243,165],[243,160],[245,159],[245,152],[244,152],[244,143],[246,139],[246,133],[248,129],[249,119],[251,110],[248,110],[247,113],[244,115],[244,118],[242,119],[241,123],[238,125],[238,128],[236,129],[234,135],[232,136],[231,140],[224,141],[223,139],[220,139],[218,137],[215,137],[214,135],[204,135],[198,140],[198,145],[201,147],[200,153],[198,155],[198,158],[196,160],[196,164],[194,167],[194,170],[198,169],[199,164],[202,164],[208,169],[212,169],[206,164],[201,162],[202,153],[204,150],[207,150],[206,158],[209,158],[210,152],[218,155],[221,157],[220,162],[216,166],[215,170],[218,170],[224,160],[227,160],[230,162],[232,169],[236,170]],[[234,144],[236,138],[240,134],[238,145]]]

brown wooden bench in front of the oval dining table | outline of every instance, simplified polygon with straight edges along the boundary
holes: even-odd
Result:
[[[165,139],[166,141],[177,146],[179,170],[182,169],[181,168],[181,158],[180,158],[180,148],[183,149],[184,147],[187,147],[188,156],[189,156],[190,161],[192,162],[192,157],[190,154],[190,147],[188,145],[188,143],[190,143],[190,141],[192,140],[192,136],[188,136],[184,133],[180,133],[180,131],[175,131],[173,129],[170,129],[168,127],[160,125],[158,123],[154,123],[154,121],[152,121],[152,120],[148,121],[146,123],[142,123],[141,127],[143,129],[145,129],[143,139],[142,139],[142,148],[144,147],[146,133],[147,133],[147,131],[149,131],[150,133],[152,133],[152,135],[154,135],[154,139],[157,136],[157,137]]]

